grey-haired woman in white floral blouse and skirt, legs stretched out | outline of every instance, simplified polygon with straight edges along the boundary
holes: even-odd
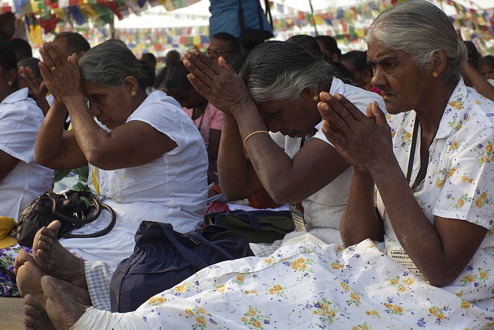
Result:
[[[323,91],[318,103],[321,131],[352,166],[341,224],[347,248],[299,243],[223,262],[125,314],[76,304],[45,276],[47,314],[28,301],[27,324],[44,317],[57,329],[492,328],[494,103],[465,87],[465,46],[431,3],[391,7],[366,41],[390,124],[376,103],[367,116],[341,94]],[[223,61],[221,68],[197,52],[186,57],[193,84],[226,89]],[[246,97],[236,111],[248,105]]]

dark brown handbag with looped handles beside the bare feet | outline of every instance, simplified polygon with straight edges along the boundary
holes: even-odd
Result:
[[[88,199],[91,205],[87,206],[82,197]],[[96,220],[101,214],[102,208],[108,210],[112,216],[110,224],[105,229],[92,234],[68,234],[68,232]],[[61,237],[93,238],[108,234],[115,226],[117,215],[110,206],[99,203],[98,198],[90,192],[68,190],[63,194],[55,194],[48,190],[29,203],[22,211],[17,222],[17,243],[32,247],[36,233],[41,227],[47,226],[53,220],[62,223],[57,233],[57,239]]]

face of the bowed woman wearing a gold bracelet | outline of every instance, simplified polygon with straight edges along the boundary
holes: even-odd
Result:
[[[290,137],[304,137],[321,122],[317,102],[304,95],[299,102],[271,101],[257,105],[264,124],[272,132]]]

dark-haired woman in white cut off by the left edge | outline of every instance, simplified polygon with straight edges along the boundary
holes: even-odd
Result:
[[[29,202],[51,188],[53,171],[34,163],[43,113],[28,89],[19,89],[12,46],[1,40],[0,49],[0,216],[17,221]]]

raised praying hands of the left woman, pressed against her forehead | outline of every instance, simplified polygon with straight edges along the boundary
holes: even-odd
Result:
[[[67,59],[53,42],[44,42],[40,49],[43,61],[39,63],[46,87],[55,99],[83,94],[81,72],[77,55]]]

